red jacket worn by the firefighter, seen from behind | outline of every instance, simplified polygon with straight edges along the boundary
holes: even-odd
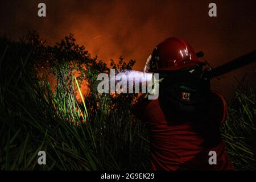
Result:
[[[209,121],[224,122],[227,107],[220,93],[212,91]],[[154,170],[232,170],[225,149],[225,143],[205,147],[202,137],[191,122],[175,125],[167,121],[158,100],[148,100],[137,109],[141,119],[150,131],[151,164]],[[219,124],[220,124],[219,123]],[[216,151],[217,164],[209,164],[209,151]]]

